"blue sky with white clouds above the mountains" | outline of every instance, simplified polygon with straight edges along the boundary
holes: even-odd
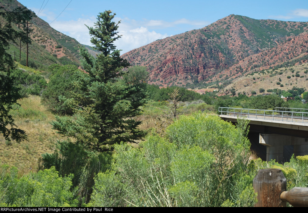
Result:
[[[115,21],[121,20],[119,32],[123,36],[115,44],[118,49],[123,50],[122,54],[157,39],[205,27],[230,14],[244,15],[253,19],[308,21],[308,3],[304,0],[19,0],[19,2],[48,23],[51,23],[71,2],[50,25],[87,45],[91,43],[84,24],[93,26],[99,12],[113,10],[116,13]],[[44,9],[39,13],[41,6]]]

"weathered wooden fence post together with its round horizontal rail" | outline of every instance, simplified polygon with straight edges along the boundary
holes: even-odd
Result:
[[[294,187],[286,191],[286,177],[281,169],[260,169],[253,178],[253,188],[258,193],[255,207],[308,207],[308,188]]]

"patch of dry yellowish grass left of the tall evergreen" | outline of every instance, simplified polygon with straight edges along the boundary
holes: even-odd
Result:
[[[18,100],[20,107],[15,105],[10,112],[15,124],[26,131],[28,140],[20,144],[8,142],[0,136],[0,162],[19,169],[19,175],[36,171],[37,162],[43,153],[51,153],[55,142],[61,136],[51,129],[50,122],[55,116],[41,105],[39,96],[29,96]]]

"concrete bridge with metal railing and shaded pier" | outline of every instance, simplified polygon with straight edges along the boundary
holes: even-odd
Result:
[[[288,161],[308,155],[308,109],[276,108],[275,110],[219,107],[220,117],[237,123],[249,119],[249,132],[258,133],[259,144],[266,146],[266,161]]]

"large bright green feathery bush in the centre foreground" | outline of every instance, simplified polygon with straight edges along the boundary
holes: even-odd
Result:
[[[253,206],[246,125],[182,116],[167,139],[116,145],[113,170],[95,178],[90,206]]]

